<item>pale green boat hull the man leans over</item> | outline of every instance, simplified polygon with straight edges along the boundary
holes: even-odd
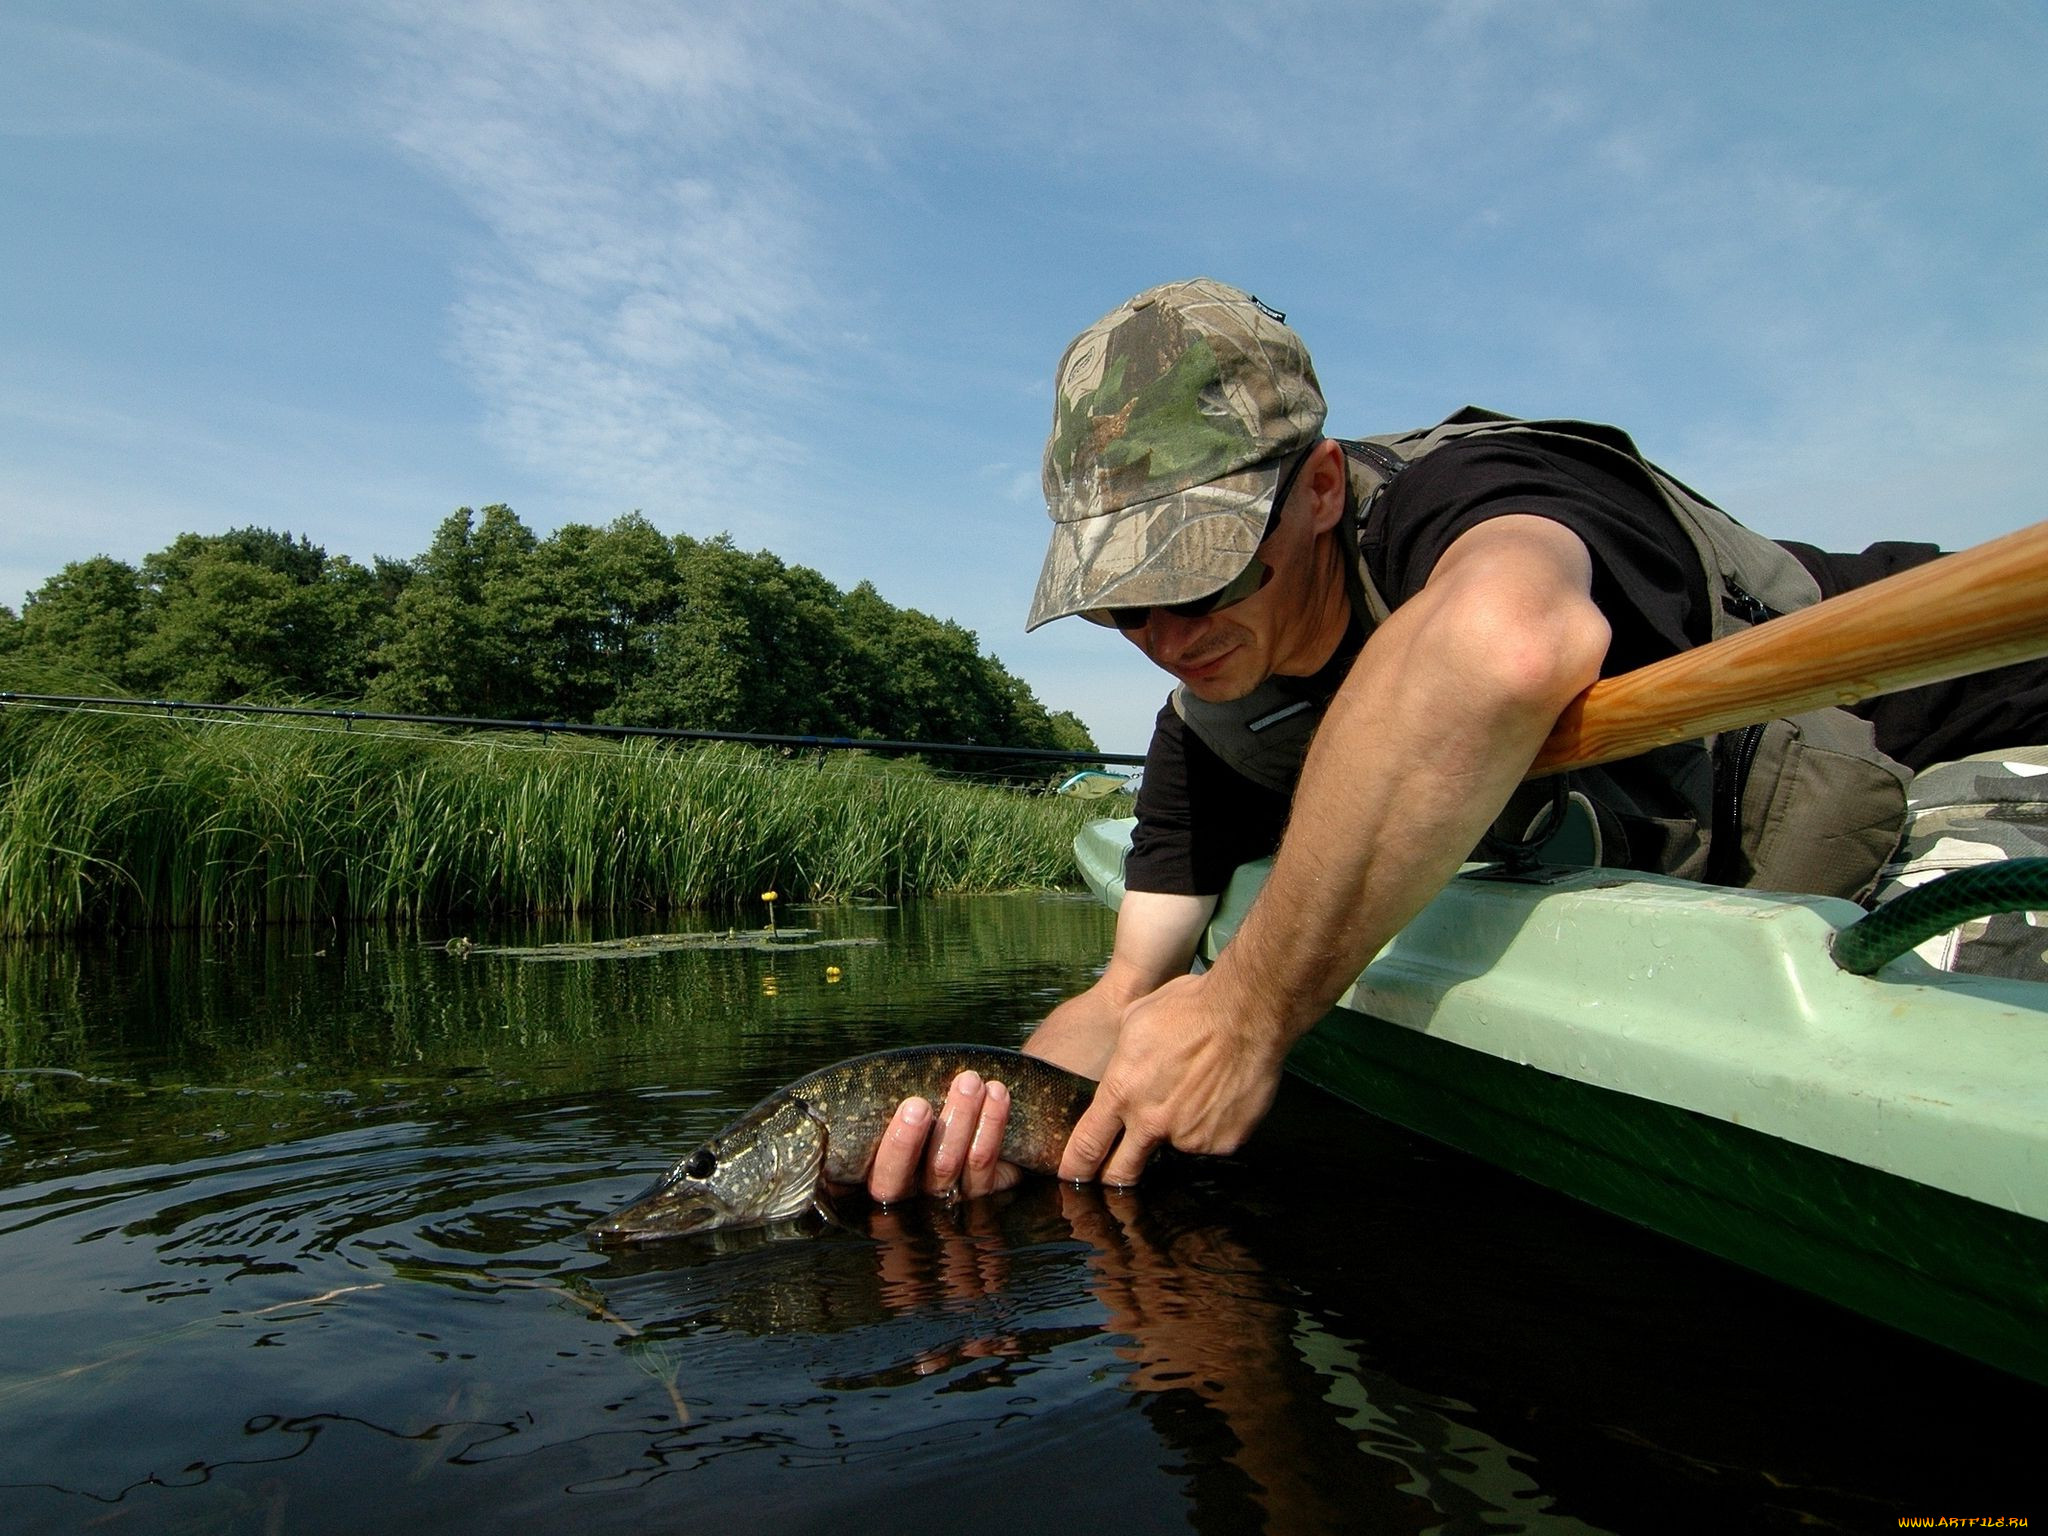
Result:
[[[1075,840],[1112,907],[1135,825]],[[1206,958],[1266,872],[1237,872]],[[1366,967],[1290,1069],[2048,1384],[2048,985],[1911,952],[1851,975],[1829,940],[1864,913],[1829,897],[1481,874]]]

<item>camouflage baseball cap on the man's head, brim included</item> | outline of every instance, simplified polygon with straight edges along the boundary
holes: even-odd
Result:
[[[1024,629],[1229,586],[1288,457],[1321,430],[1309,348],[1249,293],[1198,276],[1112,309],[1059,360],[1053,543]]]

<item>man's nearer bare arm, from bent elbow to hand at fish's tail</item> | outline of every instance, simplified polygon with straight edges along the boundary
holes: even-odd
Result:
[[[1456,872],[1606,647],[1577,535],[1503,516],[1452,543],[1331,698],[1231,946],[1124,1008],[1061,1176],[1130,1184],[1161,1143],[1235,1151],[1288,1047]]]

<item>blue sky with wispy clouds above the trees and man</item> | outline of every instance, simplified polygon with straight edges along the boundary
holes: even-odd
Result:
[[[870,580],[1106,750],[1022,635],[1075,330],[1208,274],[1331,428],[1587,416],[1765,532],[2048,516],[2048,6],[0,8],[0,602],[457,506]]]

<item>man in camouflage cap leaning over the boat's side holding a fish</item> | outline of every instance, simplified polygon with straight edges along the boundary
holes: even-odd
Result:
[[[1522,778],[1595,678],[1937,553],[1774,545],[1612,428],[1462,412],[1343,442],[1323,416],[1282,315],[1206,279],[1141,293],[1061,360],[1026,627],[1081,614],[1178,680],[1110,963],[1026,1042],[1102,1081],[1063,1178],[1235,1151],[1294,1040],[1475,846],[1556,831],[1565,807]],[[2005,672],[1874,709],[1876,729],[1821,711],[1573,776],[1575,836],[1597,862],[1864,897],[1923,750],[2048,739],[2048,668]],[[1188,975],[1229,870],[1266,854],[1251,915]],[[936,1135],[907,1102],[870,1192],[1001,1188],[1006,1116],[971,1075]]]

